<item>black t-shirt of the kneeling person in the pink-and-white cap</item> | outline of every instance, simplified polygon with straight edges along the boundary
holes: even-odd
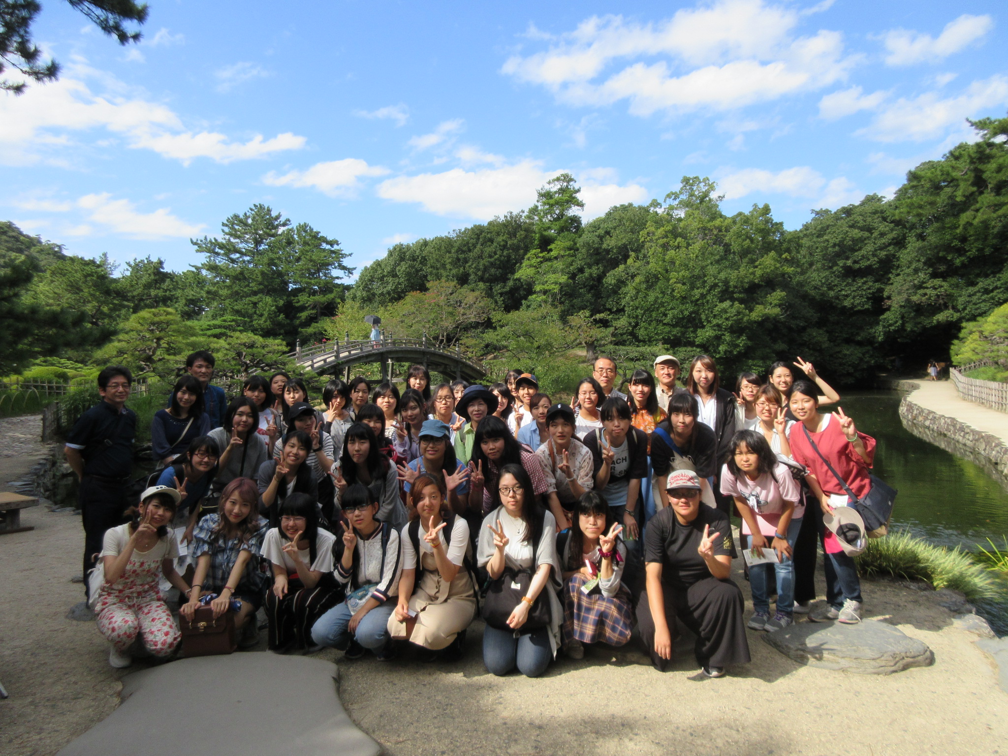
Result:
[[[661,582],[684,588],[711,576],[704,557],[697,552],[704,538],[704,526],[710,532],[720,533],[715,539],[714,554],[728,554],[735,557],[735,543],[728,515],[720,509],[700,505],[697,518],[681,524],[671,507],[665,507],[647,523],[644,533],[644,561],[656,561],[662,565]]]

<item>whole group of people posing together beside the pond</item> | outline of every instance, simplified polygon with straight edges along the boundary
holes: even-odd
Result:
[[[479,614],[487,669],[528,676],[558,653],[624,645],[635,626],[663,670],[681,623],[717,677],[749,661],[747,627],[860,621],[856,544],[835,515],[871,488],[875,442],[839,406],[820,410],[840,397],[800,358],[730,391],[711,357],[680,381],[660,355],[623,393],[600,357],[570,403],[519,370],[431,385],[413,365],[401,392],[334,378],[313,398],[277,372],[230,400],[213,371],[213,355],[191,355],[155,414],[159,466],[139,502],[127,369],[102,371],[103,401],[67,438],[113,666],[175,652],[171,586],[183,619],[233,612],[240,646],[258,642],[262,609],[270,649],[350,659],[403,644],[458,658]],[[820,544],[827,602],[809,614]]]

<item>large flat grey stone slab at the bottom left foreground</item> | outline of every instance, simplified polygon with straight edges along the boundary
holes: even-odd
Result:
[[[119,708],[57,756],[378,756],[337,676],[332,662],[269,652],[172,661],[124,677]]]

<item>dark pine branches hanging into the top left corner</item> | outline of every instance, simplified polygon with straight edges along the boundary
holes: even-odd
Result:
[[[114,36],[120,44],[136,42],[139,31],[129,31],[126,24],[134,21],[142,24],[147,20],[146,3],[137,4],[131,0],[67,0],[71,6],[81,11],[102,31]],[[0,74],[9,66],[26,79],[39,84],[55,81],[59,76],[59,64],[41,59],[42,51],[31,39],[31,24],[42,9],[37,0],[3,0],[0,2]],[[20,95],[27,87],[26,82],[0,80],[0,90]]]

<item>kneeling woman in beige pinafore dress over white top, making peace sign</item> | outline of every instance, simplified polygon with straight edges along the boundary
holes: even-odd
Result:
[[[402,529],[399,601],[388,620],[395,640],[462,655],[466,628],[476,615],[469,569],[469,523],[452,513],[440,478],[421,475],[410,490],[411,520]]]

